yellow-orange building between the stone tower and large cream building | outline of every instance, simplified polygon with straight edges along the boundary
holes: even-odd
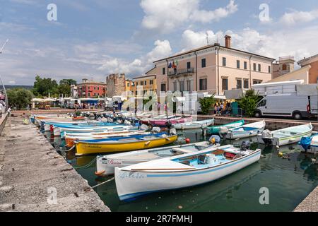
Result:
[[[142,88],[142,93],[138,89]],[[141,76],[134,78],[134,85],[131,90],[134,95],[150,95],[157,92],[157,81],[155,75]]]

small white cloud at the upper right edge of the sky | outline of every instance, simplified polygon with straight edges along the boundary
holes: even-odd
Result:
[[[313,11],[293,11],[285,13],[280,21],[284,25],[295,25],[298,23],[307,23],[318,18],[318,9]]]

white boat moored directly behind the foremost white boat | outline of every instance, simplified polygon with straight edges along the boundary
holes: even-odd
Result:
[[[204,141],[199,143],[190,143],[184,145],[175,145],[164,148],[153,148],[148,150],[137,150],[128,153],[119,153],[114,155],[100,155],[96,160],[97,176],[107,176],[114,174],[115,167],[126,167],[129,165],[138,164],[141,162],[148,162],[157,160],[163,157],[172,157],[182,155],[184,153],[193,153],[205,148],[218,147],[219,144],[212,144]]]

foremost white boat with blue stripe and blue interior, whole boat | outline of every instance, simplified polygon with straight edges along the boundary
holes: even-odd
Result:
[[[181,189],[215,181],[243,169],[261,157],[261,150],[225,145],[195,153],[167,157],[114,172],[120,200],[134,199],[158,191]]]

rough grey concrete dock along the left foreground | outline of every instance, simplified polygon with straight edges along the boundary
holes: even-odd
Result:
[[[110,211],[33,124],[9,117],[0,137],[0,211]]]

